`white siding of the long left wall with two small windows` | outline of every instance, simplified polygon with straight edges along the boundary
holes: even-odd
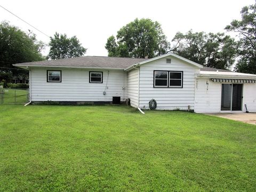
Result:
[[[123,70],[89,70],[75,68],[56,68],[61,70],[62,82],[46,81],[46,70],[53,68],[31,69],[31,101],[112,101],[112,97],[124,97]],[[103,83],[89,83],[89,71],[102,71]],[[107,83],[108,78],[108,83]],[[106,87],[107,83],[107,87]],[[106,88],[106,95],[103,91]]]

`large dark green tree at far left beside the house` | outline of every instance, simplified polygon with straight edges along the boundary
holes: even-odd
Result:
[[[9,22],[0,23],[0,82],[10,81],[10,76],[28,78],[28,71],[18,69],[12,64],[45,60],[41,54],[45,44],[37,41],[36,35],[30,30],[26,34]]]

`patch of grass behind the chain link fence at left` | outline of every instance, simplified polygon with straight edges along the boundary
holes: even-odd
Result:
[[[28,102],[28,91],[18,89],[4,89],[4,93],[0,93],[1,97],[4,97],[4,103],[26,103]]]

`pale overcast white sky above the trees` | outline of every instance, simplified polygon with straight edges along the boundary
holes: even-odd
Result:
[[[193,0],[193,1],[2,1],[0,5],[20,18],[53,36],[55,31],[76,35],[87,48],[85,55],[107,56],[105,44],[110,35],[135,18],[150,18],[161,23],[165,35],[172,40],[177,31],[189,29],[224,32],[233,19],[241,18],[243,6],[253,0]],[[22,30],[33,30],[37,39],[49,43],[49,38],[31,28],[0,7],[0,21],[10,21]],[[44,51],[47,54],[49,49]]]

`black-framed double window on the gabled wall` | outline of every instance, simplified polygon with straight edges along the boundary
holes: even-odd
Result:
[[[182,88],[183,71],[154,71],[154,87]]]

